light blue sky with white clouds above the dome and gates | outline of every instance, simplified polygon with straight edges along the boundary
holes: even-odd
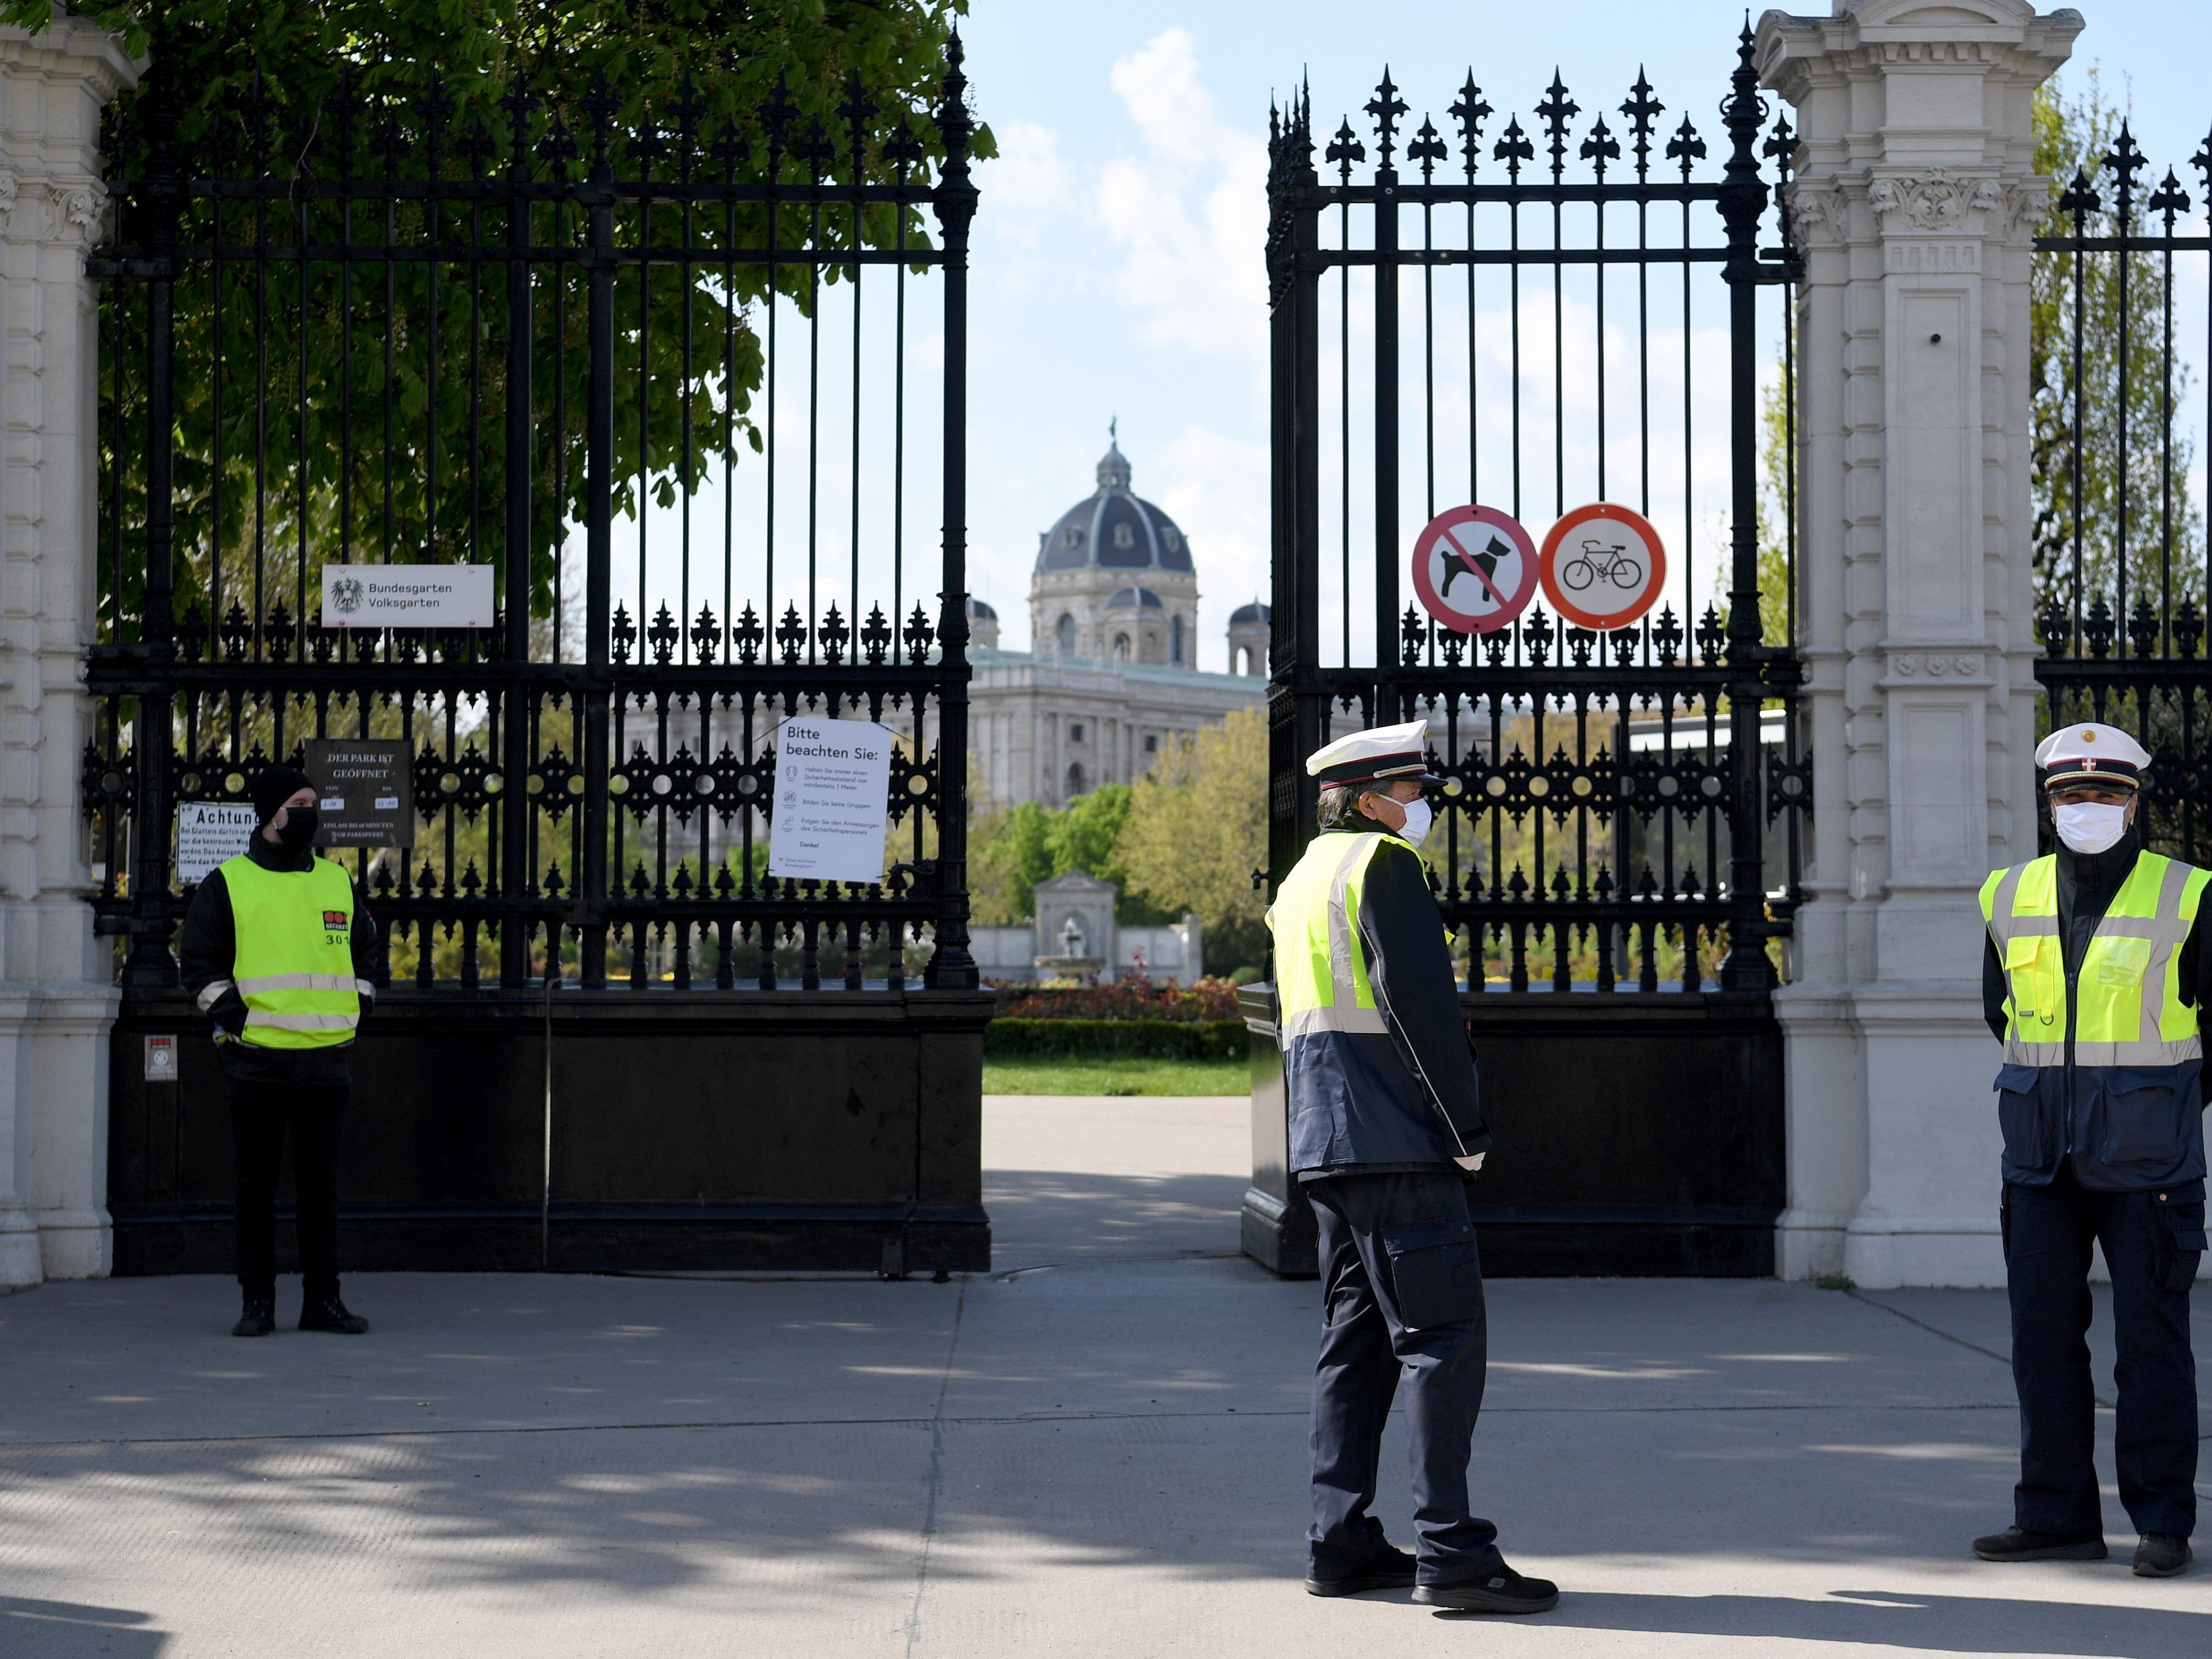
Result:
[[[1387,9],[1316,0],[971,2],[962,27],[971,97],[1000,155],[975,170],[980,212],[969,257],[969,588],[998,608],[1000,644],[1029,648],[1037,535],[1093,491],[1093,467],[1113,420],[1133,487],[1190,538],[1201,591],[1197,666],[1212,670],[1228,668],[1230,611],[1267,595],[1263,239],[1270,100],[1307,77],[1314,122],[1325,135],[1343,113],[1360,111],[1389,66],[1411,106],[1407,131],[1418,128],[1422,115],[1449,131],[1447,108],[1473,73],[1495,108],[1486,131],[1493,139],[1513,113],[1537,126],[1533,106],[1557,71],[1582,104],[1571,128],[1579,137],[1599,113],[1619,124],[1615,111],[1641,71],[1668,106],[1661,126],[1672,128],[1688,113],[1708,137],[1712,155],[1703,166],[1710,173],[1723,157],[1719,104],[1745,15],[1714,0],[1553,0],[1548,7],[1398,0]],[[1809,11],[1816,0],[1801,4]],[[2079,88],[2097,69],[2106,100],[2132,113],[2135,135],[2152,161],[2150,177],[2172,166],[2197,195],[2199,175],[2188,159],[2212,131],[2212,91],[2201,75],[2212,53],[2212,0],[2090,0],[2079,11],[2088,27],[2073,64],[2062,71],[2062,86]],[[1365,115],[1360,128],[1371,139]],[[1489,159],[1484,166],[1484,177],[1498,173]],[[1571,179],[1586,177],[1586,164],[1568,166]],[[1528,228],[1544,234],[1540,223]],[[1482,234],[1502,232],[1493,226]],[[1568,234],[1575,237],[1573,228]],[[2197,270],[2203,270],[2201,257]],[[703,602],[726,613],[721,549],[728,535],[732,599],[739,606],[759,602],[765,588],[761,608],[770,626],[787,604],[816,617],[830,604],[849,617],[854,597],[863,613],[878,599],[889,611],[894,551],[905,568],[898,608],[936,611],[940,285],[933,276],[905,283],[900,429],[885,367],[896,358],[891,332],[900,325],[894,281],[889,268],[872,268],[858,321],[849,285],[823,292],[818,330],[790,305],[776,307],[783,372],[774,407],[785,436],[774,467],[768,458],[741,462],[728,484],[710,469],[688,507],[653,509],[641,538],[635,522],[619,524],[615,593],[626,606],[644,617],[661,599],[684,615],[697,615]],[[1363,281],[1358,276],[1352,288],[1356,305]],[[1440,296],[1455,281],[1440,276]],[[1522,294],[1522,334],[1548,343],[1551,294],[1540,279],[1531,281],[1537,292]],[[1655,274],[1652,281],[1655,294],[1661,292],[1663,279]],[[1632,276],[1619,272],[1608,283],[1613,294],[1626,296]],[[1692,416],[1688,434],[1679,416],[1672,431],[1655,420],[1641,500],[1668,542],[1668,599],[1692,613],[1712,597],[1728,542],[1728,385],[1714,372],[1728,349],[1725,301],[1712,268],[1701,270],[1699,283],[1688,330],[1679,301],[1666,321],[1652,314],[1650,407],[1679,411],[1688,385]],[[1334,303],[1329,288],[1323,288],[1325,307]],[[1402,292],[1411,305],[1413,279]],[[1464,312],[1455,321],[1442,299],[1436,336],[1436,453],[1458,449],[1467,456],[1471,407],[1482,409],[1482,453],[1458,462],[1455,473],[1440,465],[1433,480],[1407,473],[1400,493],[1407,540],[1425,520],[1425,495],[1438,509],[1467,498],[1469,467],[1482,480],[1478,493],[1504,504],[1493,493],[1502,489],[1495,480],[1511,471],[1511,456],[1495,451],[1493,438],[1509,429],[1498,387],[1506,383],[1513,307],[1498,296],[1498,285],[1482,294],[1473,341]],[[1559,380],[1559,478],[1548,465],[1548,361],[1535,363],[1528,376],[1537,392],[1524,392],[1531,420],[1524,449],[1535,476],[1520,515],[1535,538],[1557,511],[1599,495],[1601,456],[1613,458],[1610,480],[1637,471],[1632,456],[1621,453],[1619,414],[1646,392],[1628,376],[1637,358],[1635,319],[1615,301],[1606,325],[1597,327],[1593,299],[1586,274],[1571,272],[1562,285],[1571,349]],[[2201,276],[2190,281],[2183,272],[2177,319],[2181,356],[2197,369],[2197,392],[2181,409],[2188,429],[2203,425],[2205,407]],[[1332,334],[1325,316],[1323,338]],[[1772,365],[1781,347],[1778,290],[1761,290],[1761,363]],[[1595,369],[1599,343],[1606,347],[1604,376]],[[1352,376],[1356,429],[1371,420],[1358,394],[1360,349],[1354,347]],[[1420,429],[1411,334],[1405,361],[1402,453],[1411,469]],[[1325,372],[1325,385],[1327,378]],[[1469,394],[1471,383],[1480,396]],[[1599,385],[1613,409],[1604,449],[1590,442]],[[860,409],[858,436],[854,407]],[[1325,420],[1334,416],[1323,409]],[[818,434],[812,445],[803,440],[810,427]],[[902,473],[891,465],[900,442]],[[2199,442],[2199,502],[2208,449],[2212,445]],[[1332,529],[1338,513],[1356,526],[1352,604],[1345,604],[1334,560],[1323,564],[1323,604],[1347,617],[1343,648],[1354,657],[1371,648],[1371,604],[1358,575],[1371,564],[1371,553],[1358,546],[1358,526],[1371,524],[1371,458],[1354,447],[1347,487],[1332,495],[1332,471],[1323,500]],[[770,476],[774,502],[765,493]],[[1639,504],[1621,482],[1608,482],[1604,493]],[[692,584],[681,575],[686,518],[695,546],[690,568],[701,573]],[[807,546],[818,551],[812,577]],[[571,557],[580,555],[575,538]],[[580,591],[580,582],[573,586]]]

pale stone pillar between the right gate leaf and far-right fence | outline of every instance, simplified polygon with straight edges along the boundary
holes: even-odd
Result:
[[[2028,104],[2081,31],[2022,0],[1770,11],[1798,111],[1798,546],[1814,752],[1783,1276],[2004,1283],[1978,887],[2035,856]]]

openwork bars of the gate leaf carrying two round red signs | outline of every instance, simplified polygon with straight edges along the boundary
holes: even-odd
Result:
[[[1641,75],[1621,128],[1606,115],[1577,128],[1582,111],[1555,75],[1537,124],[1515,115],[1502,131],[1469,75],[1449,108],[1455,137],[1422,119],[1405,142],[1409,108],[1385,73],[1367,104],[1374,168],[1358,181],[1367,155],[1349,119],[1325,144],[1336,177],[1323,181],[1307,95],[1274,117],[1267,874],[1281,880],[1314,834],[1303,759],[1338,717],[1354,728],[1427,717],[1444,776],[1429,847],[1473,991],[1493,971],[1528,989],[1531,956],[1562,991],[1577,980],[1657,991],[1661,978],[1699,991],[1708,962],[1725,989],[1774,982],[1767,940],[1787,933],[1798,898],[1812,776],[1794,710],[1787,431],[1770,504],[1783,540],[1767,549],[1785,593],[1776,637],[1761,628],[1759,292],[1798,265],[1785,210],[1765,219],[1761,173],[1761,157],[1774,159],[1785,184],[1794,139],[1785,119],[1765,131],[1750,51],[1745,31],[1719,177],[1699,166],[1697,126],[1663,124]],[[1568,177],[1571,155],[1586,179]],[[1781,246],[1761,250],[1763,223]],[[1792,307],[1774,310],[1787,422]],[[1728,478],[1719,588],[1697,571],[1708,385],[1725,392],[1725,467],[1703,458]],[[1467,635],[1400,608],[1407,509],[1433,515],[1462,484],[1464,500],[1515,520],[1524,504],[1564,513],[1588,491],[1679,526],[1657,615],[1593,630],[1537,604]]]

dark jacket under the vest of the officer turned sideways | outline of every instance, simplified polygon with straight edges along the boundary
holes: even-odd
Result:
[[[1307,858],[1336,858],[1345,834],[1323,832]],[[1458,1172],[1489,1150],[1482,1091],[1460,1013],[1460,984],[1429,872],[1385,841],[1360,883],[1360,953],[1385,1031],[1321,1031],[1283,1044],[1290,1168],[1298,1177],[1394,1170]]]

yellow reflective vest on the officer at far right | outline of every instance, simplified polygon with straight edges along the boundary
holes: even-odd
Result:
[[[2203,1055],[2181,1000],[2179,951],[2212,872],[2137,854],[2075,973],[2077,1066],[2179,1066]],[[1991,872],[1982,920],[2004,964],[2004,1062],[2066,1064],[2066,960],[2057,858]]]

